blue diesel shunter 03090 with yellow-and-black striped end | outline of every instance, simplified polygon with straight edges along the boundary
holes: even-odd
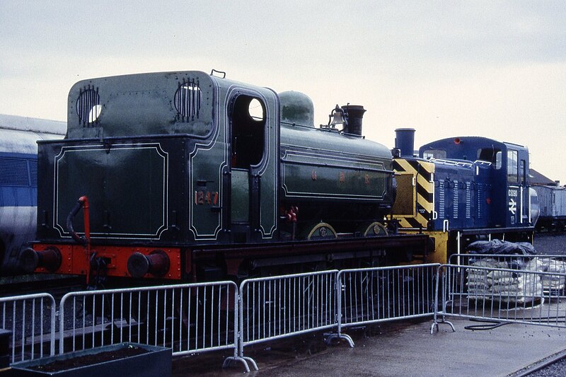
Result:
[[[413,156],[414,129],[398,129],[394,160],[400,226],[427,231],[431,259],[446,262],[478,239],[533,241],[538,218],[529,182],[529,151],[485,137],[454,137],[421,146]],[[403,207],[405,203],[405,207]],[[399,205],[398,205],[399,204]]]

